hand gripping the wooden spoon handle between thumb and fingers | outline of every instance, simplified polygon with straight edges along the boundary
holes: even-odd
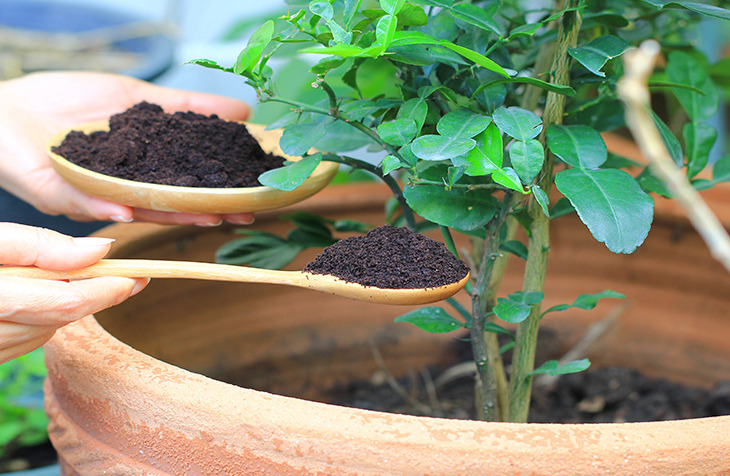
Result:
[[[0,264],[83,268],[99,261],[112,241],[0,223]],[[106,277],[64,282],[0,276],[0,364],[42,346],[58,328],[137,294],[148,281]]]

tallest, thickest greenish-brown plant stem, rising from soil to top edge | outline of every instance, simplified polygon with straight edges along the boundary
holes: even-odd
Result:
[[[577,7],[578,0],[568,0],[568,7]],[[577,10],[567,11],[561,17],[558,28],[558,43],[555,47],[551,67],[550,82],[559,85],[570,83],[570,56],[568,48],[577,44],[580,32],[581,17]],[[545,146],[546,131],[553,124],[560,124],[565,110],[565,97],[560,94],[548,93],[543,116],[543,131],[540,142]],[[546,151],[545,162],[540,172],[538,185],[546,194],[550,194],[553,183],[554,157]],[[528,258],[525,265],[525,276],[522,289],[525,292],[542,292],[547,271],[547,259],[550,251],[550,218],[545,216],[540,205],[533,199],[527,205],[532,218],[530,237],[528,239]],[[515,350],[512,361],[512,375],[510,379],[509,420],[514,422],[527,421],[532,394],[532,376],[535,368],[535,348],[540,325],[540,305],[533,306],[530,315],[517,327]]]

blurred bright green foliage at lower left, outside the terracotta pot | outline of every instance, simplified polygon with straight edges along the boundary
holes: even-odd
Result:
[[[48,439],[42,398],[31,399],[45,376],[42,350],[0,365],[0,463],[17,448]]]

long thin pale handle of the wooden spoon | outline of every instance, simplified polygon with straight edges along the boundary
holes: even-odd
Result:
[[[299,271],[276,271],[194,261],[104,259],[89,267],[71,271],[51,271],[35,267],[0,267],[0,275],[36,279],[86,279],[100,276],[126,278],[184,278],[210,281],[294,284]]]

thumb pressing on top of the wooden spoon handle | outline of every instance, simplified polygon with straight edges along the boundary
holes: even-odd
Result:
[[[14,223],[0,223],[0,264],[67,270],[90,266],[109,252],[111,238],[72,238]]]

